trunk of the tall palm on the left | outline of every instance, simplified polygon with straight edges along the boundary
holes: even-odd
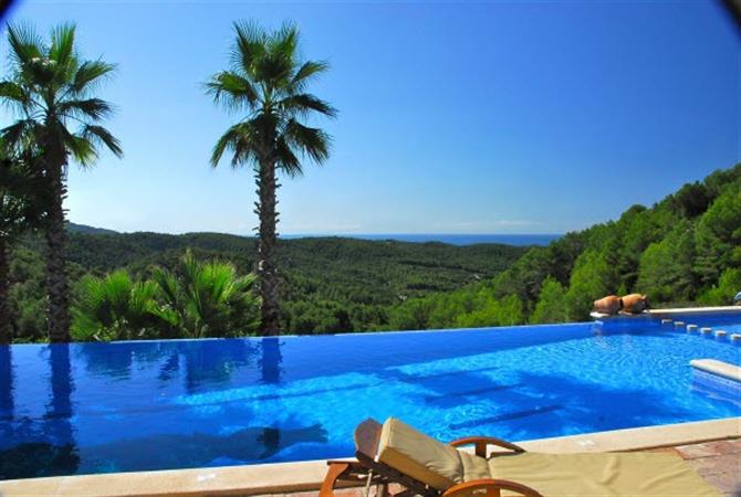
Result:
[[[46,223],[46,290],[49,293],[49,339],[52,342],[70,341],[70,292],[66,279],[64,250],[64,210],[62,202],[66,187],[62,178],[64,162],[49,170],[50,205]]]

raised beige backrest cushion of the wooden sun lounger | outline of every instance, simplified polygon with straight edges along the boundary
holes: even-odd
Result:
[[[463,464],[456,451],[395,417],[384,423],[378,461],[438,490],[463,478]]]

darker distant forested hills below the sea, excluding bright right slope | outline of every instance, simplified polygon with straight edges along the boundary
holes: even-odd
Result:
[[[27,237],[11,257],[11,313],[17,341],[42,340],[43,262],[40,240]],[[125,269],[136,282],[155,267],[176,268],[187,248],[200,260],[227,261],[238,273],[252,271],[255,240],[217,233],[121,234],[72,226],[73,308],[90,288],[86,275]],[[279,242],[283,278],[284,329],[342,332],[387,329],[388,314],[408,298],[451,292],[488,279],[526,248],[499,244],[452,246],[354,239],[299,239]],[[121,275],[118,275],[121,276]],[[121,277],[116,278],[119,284]]]

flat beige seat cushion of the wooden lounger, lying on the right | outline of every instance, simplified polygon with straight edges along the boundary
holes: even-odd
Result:
[[[489,459],[492,478],[528,485],[547,497],[721,497],[670,453],[538,454]],[[514,494],[503,493],[503,496]]]

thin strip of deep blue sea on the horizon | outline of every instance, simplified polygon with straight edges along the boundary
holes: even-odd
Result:
[[[288,234],[281,235],[284,239],[302,239],[320,235]],[[335,236],[335,235],[327,235]],[[476,243],[503,243],[505,245],[547,245],[554,240],[559,240],[560,234],[343,234],[336,235],[347,239],[359,240],[396,240],[399,242],[425,243],[441,242],[450,245],[473,245]]]

